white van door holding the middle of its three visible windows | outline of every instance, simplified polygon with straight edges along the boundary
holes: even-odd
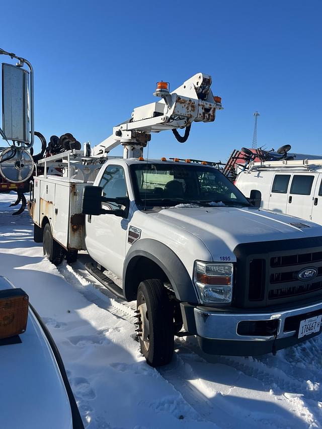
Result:
[[[293,175],[286,206],[287,214],[311,220],[313,196],[318,176],[316,173]]]

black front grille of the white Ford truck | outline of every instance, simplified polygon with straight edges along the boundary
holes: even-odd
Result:
[[[311,247],[312,243],[316,246]],[[237,307],[322,299],[322,237],[239,244],[234,252]],[[299,280],[299,271],[309,267],[317,270],[317,276],[307,282]]]

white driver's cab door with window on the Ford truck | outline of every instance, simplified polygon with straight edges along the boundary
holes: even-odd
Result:
[[[127,197],[127,185],[124,168],[119,165],[108,165],[98,186],[103,188],[103,197]],[[106,210],[117,210],[122,207],[114,203],[103,203]],[[128,218],[114,214],[87,216],[86,247],[90,256],[102,267],[122,277],[125,258]]]

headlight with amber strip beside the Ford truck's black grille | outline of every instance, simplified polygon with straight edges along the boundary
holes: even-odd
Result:
[[[229,304],[232,299],[232,264],[207,264],[197,261],[194,282],[203,304]]]

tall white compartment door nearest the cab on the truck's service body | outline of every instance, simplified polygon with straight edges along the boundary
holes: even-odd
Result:
[[[69,184],[56,183],[55,204],[52,220],[54,238],[67,248],[69,228]]]

